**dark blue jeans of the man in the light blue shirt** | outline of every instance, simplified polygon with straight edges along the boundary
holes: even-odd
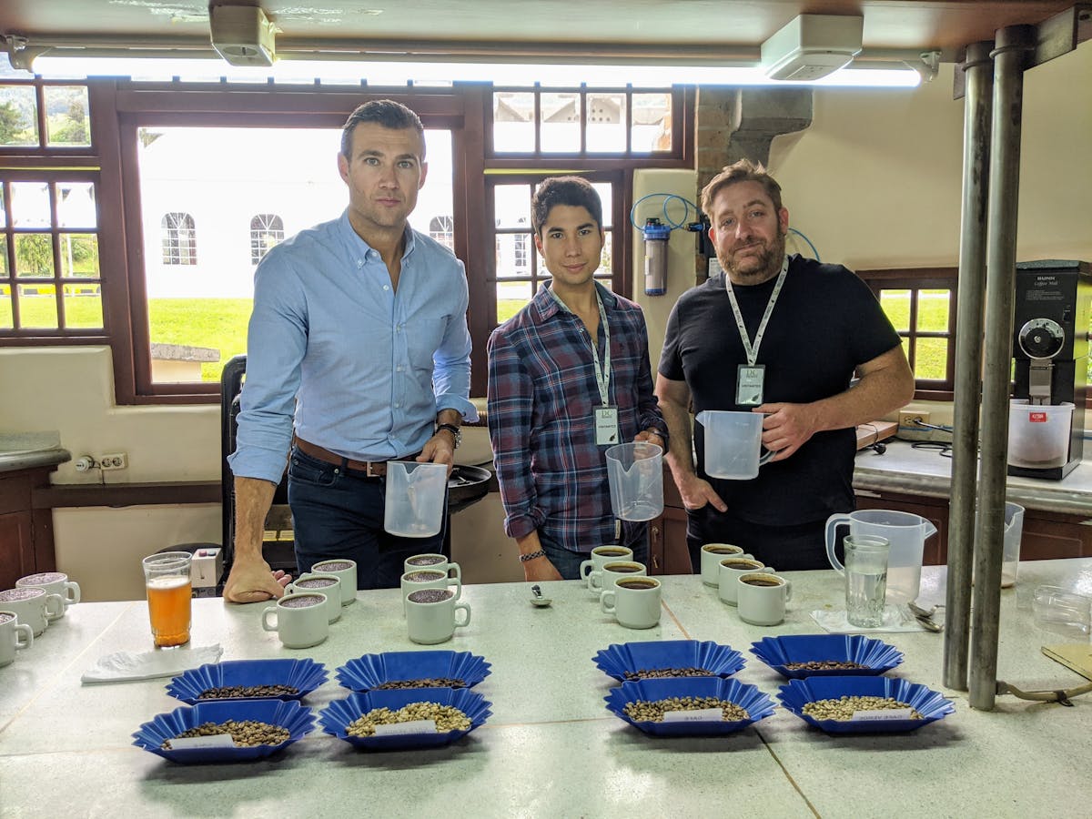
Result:
[[[396,537],[383,531],[384,492],[383,478],[293,449],[288,506],[299,572],[320,560],[344,558],[356,561],[357,589],[396,589],[407,557],[442,551],[442,529],[432,537]]]

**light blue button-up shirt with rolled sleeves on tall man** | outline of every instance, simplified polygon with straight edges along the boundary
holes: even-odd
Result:
[[[296,434],[358,461],[417,452],[436,414],[467,420],[471,336],[462,262],[411,228],[397,292],[341,218],[272,248],[254,274],[237,476],[280,483]]]

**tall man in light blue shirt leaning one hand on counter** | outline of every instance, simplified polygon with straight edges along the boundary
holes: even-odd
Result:
[[[462,263],[406,219],[425,182],[424,127],[389,99],[358,107],[337,156],[341,218],[271,249],[254,278],[235,453],[235,556],[225,600],[280,597],[262,557],[288,465],[299,571],[357,562],[360,589],[397,586],[432,538],[383,531],[387,462],[450,464],[468,400],[471,339]]]

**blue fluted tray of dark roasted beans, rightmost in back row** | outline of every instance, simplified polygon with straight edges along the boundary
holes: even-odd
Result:
[[[805,677],[870,677],[885,674],[902,663],[902,652],[893,645],[863,634],[786,634],[767,637],[751,643],[751,654],[787,679]],[[834,660],[860,663],[865,668],[786,668],[788,663]]]

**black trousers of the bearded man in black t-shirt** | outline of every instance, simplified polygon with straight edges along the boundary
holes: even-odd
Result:
[[[686,542],[693,571],[701,571],[701,547],[707,543],[731,543],[780,571],[829,569],[826,545],[827,521],[791,526],[750,523],[712,506],[687,510]]]

